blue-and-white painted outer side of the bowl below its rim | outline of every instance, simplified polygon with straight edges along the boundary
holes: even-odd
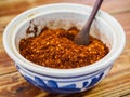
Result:
[[[48,91],[51,93],[79,93],[86,89],[93,87],[98,84],[101,79],[105,77],[105,72],[109,71],[109,67],[104,69],[104,71],[99,71],[96,74],[92,74],[91,77],[84,78],[84,75],[80,75],[80,80],[76,80],[73,78],[72,81],[68,81],[69,78],[61,78],[62,81],[58,81],[57,78],[48,77],[48,79],[43,79],[43,75],[37,75],[35,72],[31,72],[27,69],[24,69],[16,65],[17,69],[22,73],[22,75],[31,84],[37,87],[40,87],[43,91]],[[82,79],[83,78],[83,79]],[[57,79],[57,80],[56,80]],[[80,84],[80,85],[79,85]]]

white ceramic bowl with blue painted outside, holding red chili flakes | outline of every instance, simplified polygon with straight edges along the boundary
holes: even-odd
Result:
[[[30,22],[40,32],[49,28],[81,29],[91,8],[82,4],[55,3],[28,10],[15,17],[5,28],[3,44],[9,56],[14,60],[20,73],[31,84],[51,93],[79,93],[95,86],[106,77],[125,47],[126,37],[120,24],[107,13],[100,11],[92,25],[92,36],[102,40],[109,53],[101,60],[81,68],[53,69],[36,65],[20,54],[20,40],[27,37]],[[34,34],[29,34],[31,37]]]

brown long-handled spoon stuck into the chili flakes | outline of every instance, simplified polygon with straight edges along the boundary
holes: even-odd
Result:
[[[102,2],[103,2],[103,0],[96,0],[86,26],[82,28],[82,30],[74,39],[74,42],[76,44],[79,44],[79,45],[88,45],[89,44],[90,28],[91,28],[92,22],[95,18],[95,15],[96,15]]]

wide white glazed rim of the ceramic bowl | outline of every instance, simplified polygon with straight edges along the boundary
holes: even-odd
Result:
[[[14,24],[15,20],[17,20],[18,18],[21,18],[23,15],[28,14],[29,12],[32,12],[35,10],[38,9],[43,9],[43,8],[55,8],[55,6],[77,6],[77,8],[86,8],[86,9],[91,9],[91,6],[89,5],[83,5],[83,4],[77,4],[77,3],[53,3],[53,4],[47,4],[47,5],[41,5],[41,6],[37,6],[30,10],[25,11],[24,13],[20,14],[18,16],[16,16],[13,20],[11,20],[11,23],[6,26],[4,33],[3,33],[3,45],[4,45],[4,50],[5,52],[9,54],[9,56],[16,63],[16,65],[20,65],[22,67],[24,67],[25,69],[28,69],[30,71],[34,71],[36,73],[40,73],[40,74],[47,74],[47,75],[53,75],[53,77],[75,77],[75,75],[82,75],[82,74],[89,74],[89,73],[93,73],[95,71],[102,70],[106,67],[108,67],[109,65],[113,64],[113,61],[115,59],[118,58],[118,56],[121,54],[123,47],[125,47],[125,43],[126,43],[126,36],[125,36],[125,31],[122,29],[122,27],[120,26],[120,24],[114,18],[112,17],[109,14],[101,11],[105,16],[109,17],[113,22],[115,22],[115,24],[119,27],[120,29],[120,34],[121,34],[121,43],[120,43],[120,47],[117,50],[117,52],[115,53],[115,55],[113,55],[112,57],[109,57],[108,59],[106,59],[106,55],[104,58],[102,58],[101,60],[89,65],[89,66],[84,66],[84,67],[80,67],[80,68],[74,68],[74,69],[54,69],[54,68],[48,68],[48,67],[42,67],[39,65],[36,65],[27,59],[25,59],[24,57],[17,57],[16,54],[14,54],[14,52],[12,52],[10,48],[12,48],[11,45],[9,45],[6,38],[8,38],[8,30],[12,27],[12,25]],[[21,59],[22,58],[22,59]],[[104,61],[104,59],[106,59],[107,61]],[[26,61],[26,63],[25,63]],[[100,65],[99,65],[100,64]]]

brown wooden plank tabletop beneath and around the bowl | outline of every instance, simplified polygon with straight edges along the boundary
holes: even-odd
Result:
[[[72,95],[50,94],[30,85],[16,70],[2,44],[6,25],[20,13],[38,5],[73,2],[93,5],[95,0],[0,0],[0,97],[130,97],[130,0],[104,0],[102,10],[122,25],[127,43],[110,73],[94,88]]]

